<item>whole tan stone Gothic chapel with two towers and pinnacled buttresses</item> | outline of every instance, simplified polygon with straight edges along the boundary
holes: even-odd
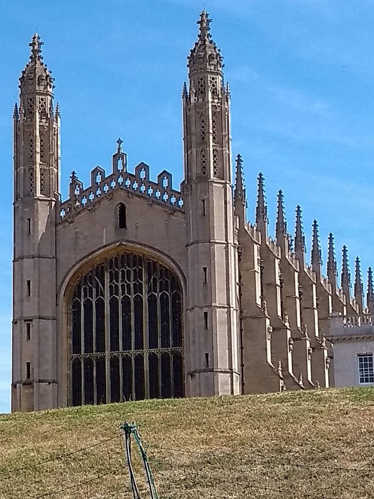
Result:
[[[338,287],[332,235],[322,275],[316,221],[305,262],[300,207],[291,248],[281,191],[268,236],[262,174],[247,222],[209,23],[203,11],[188,56],[181,189],[145,163],[129,171],[119,139],[111,171],[94,168],[89,187],[72,172],[66,201],[53,78],[33,36],[13,114],[12,411],[328,387],[330,314],[373,313],[358,259],[350,296],[346,248]]]

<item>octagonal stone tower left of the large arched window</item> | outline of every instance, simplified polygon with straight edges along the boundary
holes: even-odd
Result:
[[[12,410],[56,406],[55,206],[59,112],[40,37],[29,44],[14,121]]]

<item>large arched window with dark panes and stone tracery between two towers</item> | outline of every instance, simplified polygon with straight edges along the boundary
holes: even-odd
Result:
[[[182,291],[145,255],[107,258],[75,285],[70,405],[183,397]]]

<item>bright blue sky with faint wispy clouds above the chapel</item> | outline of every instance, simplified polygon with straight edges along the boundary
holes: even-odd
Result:
[[[203,6],[225,58],[232,153],[244,159],[248,215],[266,180],[270,233],[283,189],[289,228],[303,208],[309,258],[319,222],[323,260],[334,233],[374,265],[373,0],[4,0],[0,4],[0,412],[9,409],[12,108],[37,31],[61,107],[61,194],[71,170],[88,185],[109,168],[121,136],[132,169],[164,168],[182,181],[181,92]]]

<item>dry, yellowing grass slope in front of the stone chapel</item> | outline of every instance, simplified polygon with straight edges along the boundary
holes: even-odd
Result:
[[[0,416],[1,499],[132,499],[123,421],[160,499],[374,497],[374,389],[149,400]],[[141,463],[132,446],[141,497]]]

